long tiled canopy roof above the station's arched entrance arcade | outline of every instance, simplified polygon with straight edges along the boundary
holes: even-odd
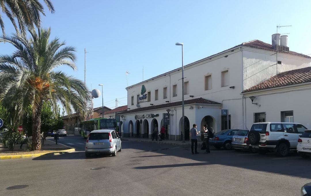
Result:
[[[203,103],[203,104],[220,104],[218,102],[215,101],[210,101],[207,99],[203,99],[201,98],[196,98],[196,99],[189,99],[189,100],[185,100],[184,104],[191,104],[191,103]],[[148,106],[148,107],[143,107],[143,108],[136,108],[136,109],[132,109],[132,110],[128,110],[125,112],[120,112],[118,114],[126,114],[126,113],[132,113],[132,112],[140,112],[140,111],[145,111],[145,110],[154,110],[154,109],[160,109],[160,108],[168,108],[168,107],[174,107],[174,106],[180,106],[182,105],[181,101],[178,102],[171,102],[171,103],[165,103],[165,104],[160,104],[160,105],[154,105],[154,106]]]

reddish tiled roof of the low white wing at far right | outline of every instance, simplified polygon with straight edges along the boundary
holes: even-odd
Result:
[[[281,72],[242,93],[311,82],[311,67]]]

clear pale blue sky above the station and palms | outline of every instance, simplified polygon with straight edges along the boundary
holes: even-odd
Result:
[[[42,0],[40,2],[43,2]],[[82,1],[53,0],[55,14],[46,9],[42,26],[52,37],[77,48],[78,71],[62,70],[84,80],[89,88],[104,84],[104,105],[127,104],[125,88],[144,79],[216,54],[242,42],[258,39],[271,44],[271,35],[288,34],[290,50],[311,54],[311,1]],[[14,32],[4,18],[6,32]],[[0,54],[14,48],[0,44]],[[125,72],[128,71],[128,84]],[[92,87],[91,87],[92,86]],[[101,106],[94,99],[94,107]]]

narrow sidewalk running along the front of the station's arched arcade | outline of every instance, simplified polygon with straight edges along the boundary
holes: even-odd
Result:
[[[134,142],[144,142],[144,143],[157,143],[157,144],[165,144],[172,146],[191,146],[191,141],[175,141],[175,140],[164,140],[164,141],[152,141],[149,138],[137,138],[137,137],[122,137],[121,141],[134,141]],[[201,146],[201,141],[197,142],[198,146]]]

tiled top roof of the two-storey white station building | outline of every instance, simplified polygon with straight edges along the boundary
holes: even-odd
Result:
[[[194,63],[197,63],[197,62],[202,61],[202,60],[210,59],[212,56],[218,55],[218,54],[223,53],[223,52],[228,51],[228,50],[232,50],[232,49],[234,49],[234,48],[236,48],[236,47],[239,47],[239,46],[245,46],[245,47],[250,47],[250,48],[258,48],[258,49],[262,49],[262,50],[269,50],[269,51],[276,52],[276,50],[272,47],[271,44],[267,44],[267,43],[265,43],[265,42],[263,42],[263,41],[260,41],[260,40],[253,40],[253,41],[243,42],[242,44],[239,44],[239,45],[236,45],[236,46],[234,46],[234,47],[232,47],[232,48],[229,48],[229,49],[227,49],[227,50],[218,52],[218,53],[216,53],[216,54],[214,54],[214,55],[211,55],[211,56],[208,56],[208,57],[206,57],[206,58],[204,58],[204,59],[197,60],[197,61],[195,61],[195,62],[193,62],[193,63],[188,64],[188,65],[184,65],[184,67],[193,65]],[[304,57],[304,58],[311,58],[311,56],[303,55],[303,54],[300,54],[300,53],[297,53],[297,52],[293,52],[293,51],[289,51],[289,52],[277,51],[277,52],[278,52],[278,53],[285,53],[285,54],[295,55],[295,56],[300,56],[300,57]],[[177,68],[177,69],[174,69],[174,70],[168,71],[168,72],[166,72],[166,73],[164,73],[164,74],[160,74],[160,75],[155,76],[155,77],[153,77],[153,78],[144,80],[144,81],[142,81],[142,82],[140,82],[140,83],[137,83],[137,84],[142,84],[142,83],[144,83],[144,82],[146,82],[146,81],[149,81],[149,80],[151,80],[151,79],[155,79],[155,78],[157,78],[157,77],[159,77],[159,76],[161,76],[161,75],[168,74],[169,72],[176,71],[176,70],[178,70],[178,69],[181,69],[181,68],[179,67],[179,68]],[[133,85],[128,86],[128,87],[126,87],[126,88],[132,87],[132,86],[137,85],[137,84],[133,84]]]

